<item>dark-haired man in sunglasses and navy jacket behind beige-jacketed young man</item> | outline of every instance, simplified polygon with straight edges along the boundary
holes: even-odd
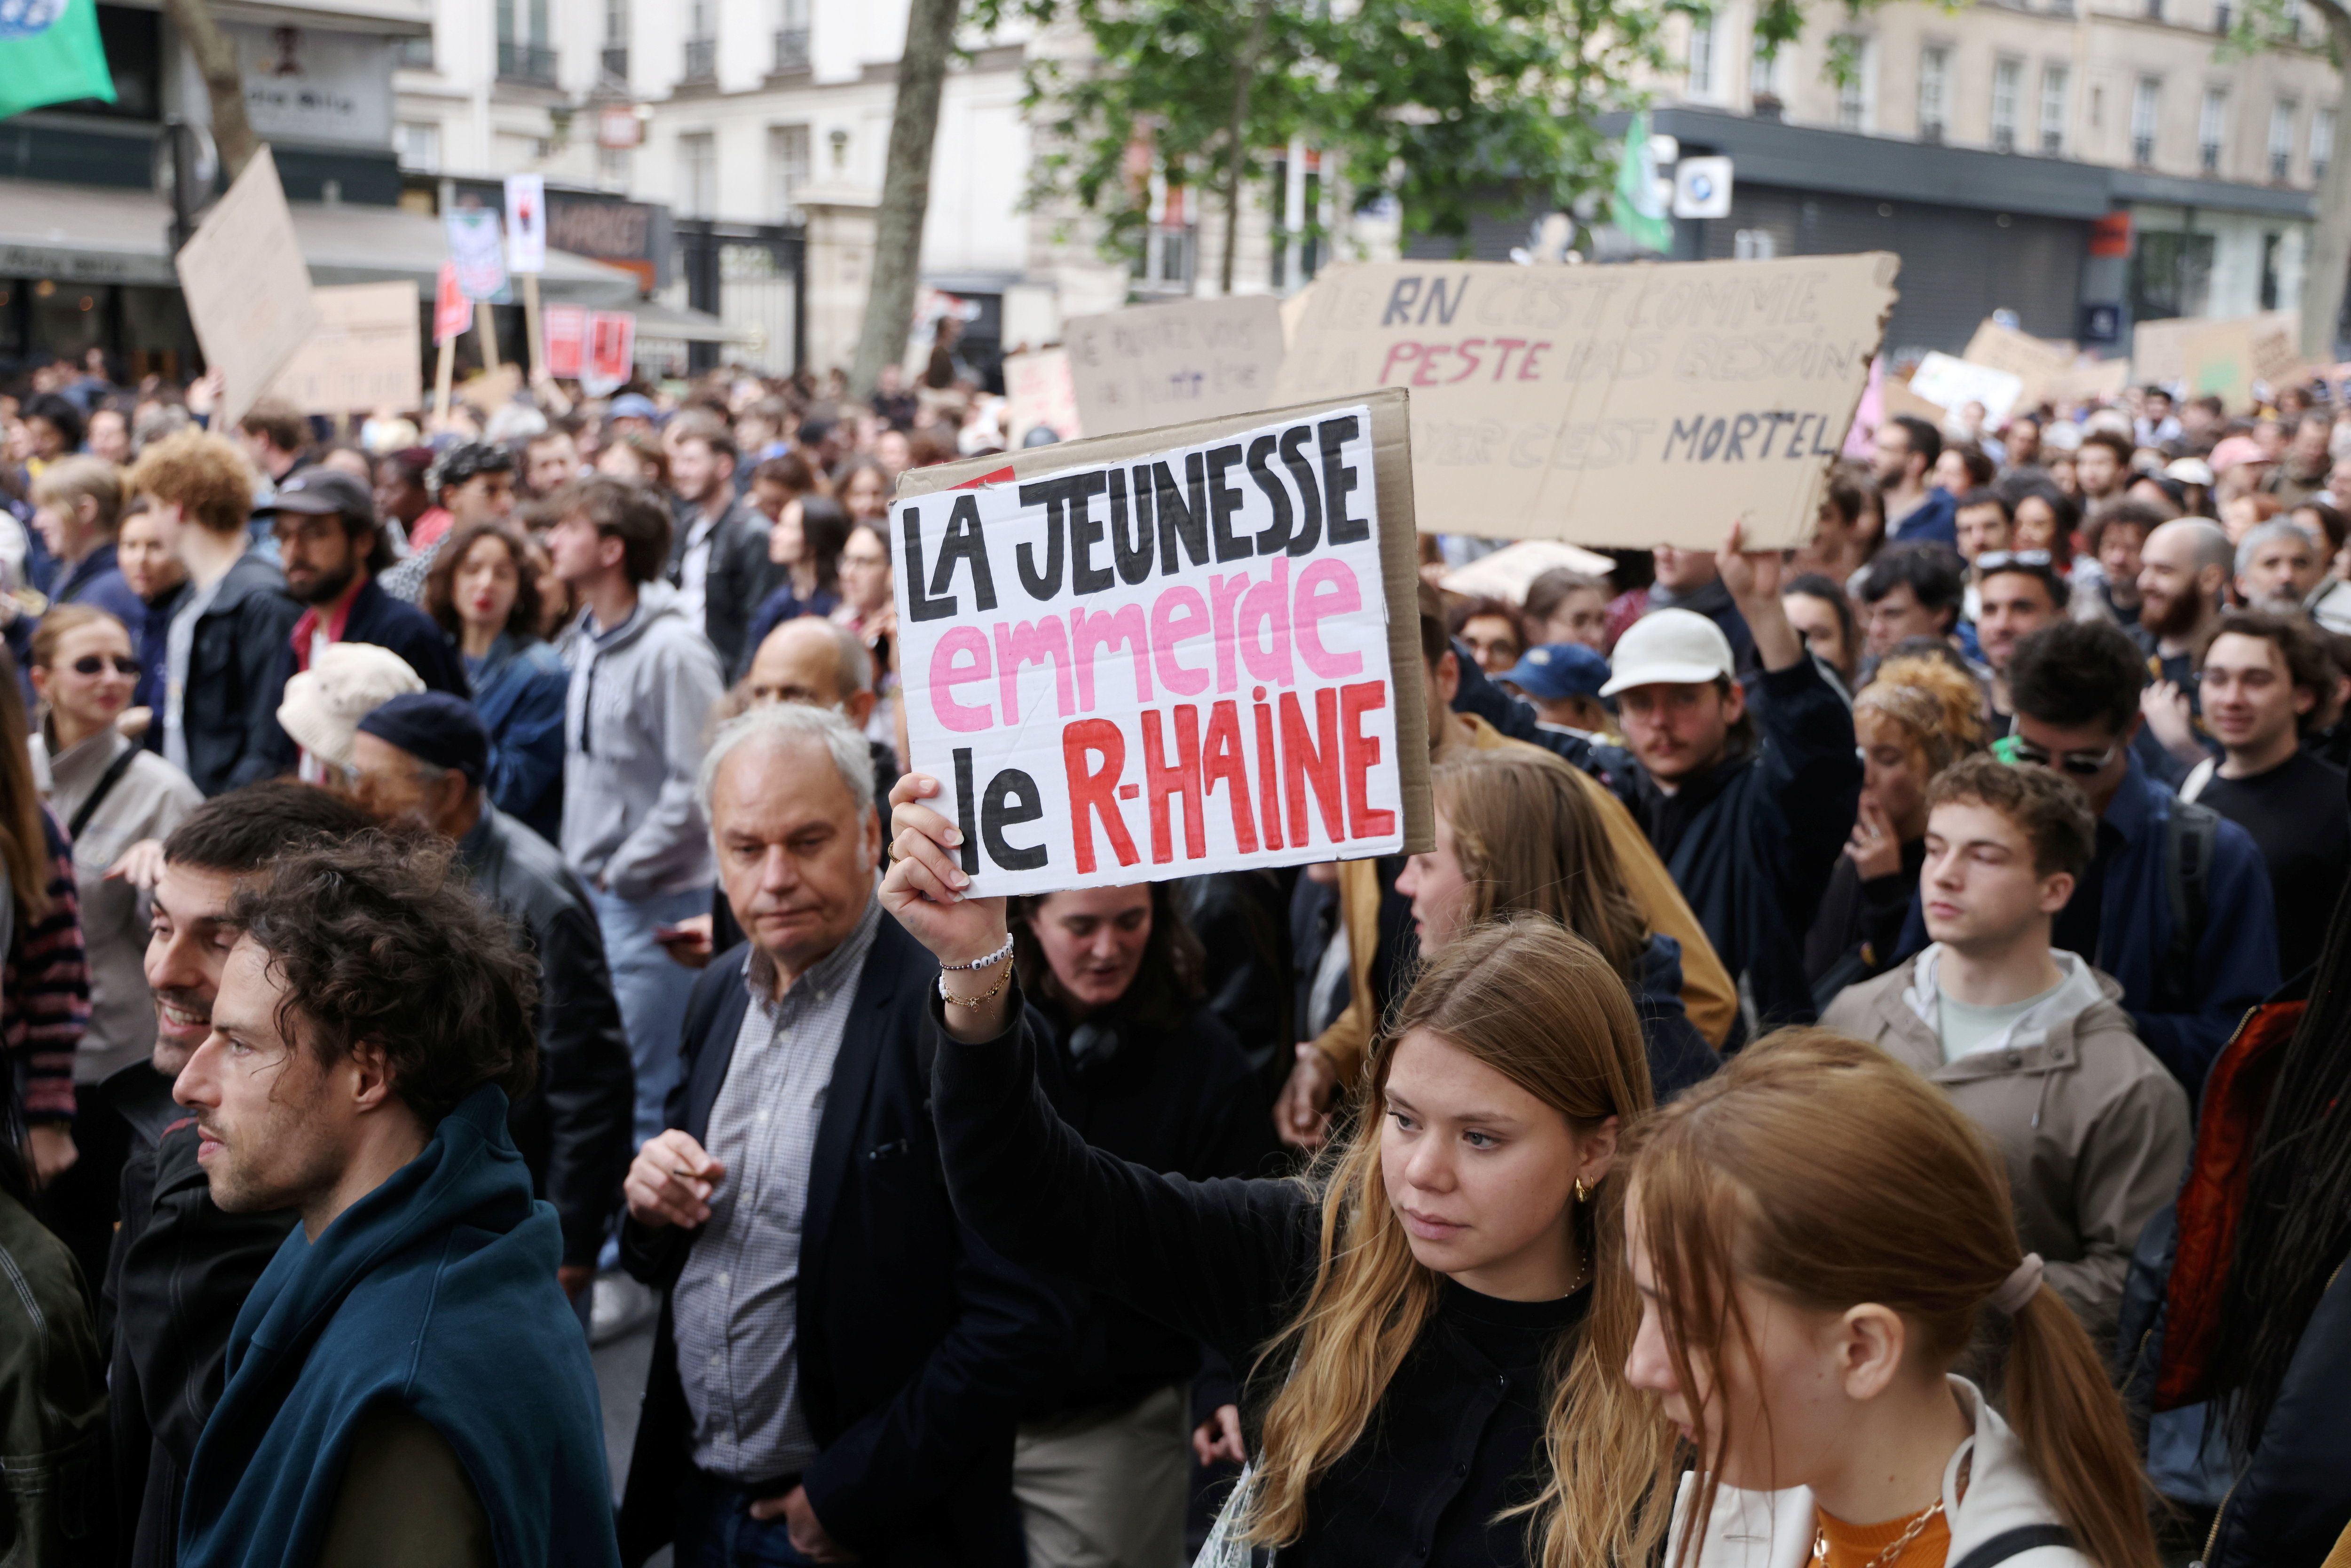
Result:
[[[2045,625],[2008,661],[2015,719],[1994,752],[2052,766],[2090,799],[2097,853],[2050,945],[2114,976],[2139,1041],[2193,1095],[2236,1023],[2278,987],[2278,919],[2252,837],[2139,766],[2144,689],[2146,658],[2118,625]],[[1911,903],[1902,950],[1925,943]]]

